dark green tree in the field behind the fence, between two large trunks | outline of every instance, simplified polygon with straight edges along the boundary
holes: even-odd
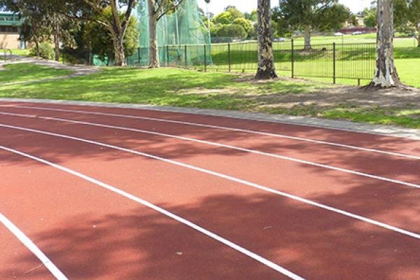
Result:
[[[311,49],[311,31],[339,29],[350,11],[337,0],[280,0],[281,18],[304,31],[304,48]]]

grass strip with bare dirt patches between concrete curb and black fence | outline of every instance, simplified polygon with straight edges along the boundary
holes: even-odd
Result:
[[[105,68],[76,78],[3,85],[0,97],[281,113],[420,128],[420,90],[413,94],[363,92],[315,81],[257,82],[248,75],[185,69]]]

